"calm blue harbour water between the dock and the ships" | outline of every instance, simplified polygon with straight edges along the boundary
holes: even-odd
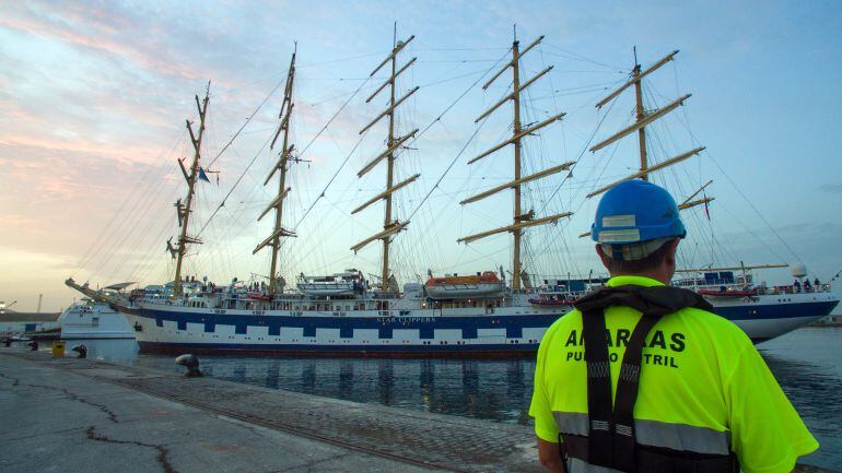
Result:
[[[78,342],[68,344],[68,348]],[[89,357],[183,371],[172,356],[127,341],[89,341]],[[842,464],[842,328],[802,329],[758,345],[821,448],[802,461]],[[356,402],[529,425],[535,363],[463,359],[308,359],[202,356],[202,370],[236,382]]]

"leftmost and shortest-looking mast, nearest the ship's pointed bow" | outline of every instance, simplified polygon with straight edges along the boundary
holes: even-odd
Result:
[[[192,123],[190,120],[187,122],[187,131],[190,133],[190,141],[192,142],[194,156],[192,164],[190,165],[190,172],[184,167],[183,159],[178,159],[178,166],[182,168],[182,174],[187,181],[187,199],[182,204],[182,200],[178,199],[175,203],[176,212],[178,214],[178,225],[182,227],[182,233],[178,236],[177,247],[173,248],[172,243],[167,241],[167,249],[173,253],[176,259],[175,262],[175,279],[173,280],[173,297],[182,295],[182,263],[184,262],[184,256],[187,252],[187,245],[201,244],[199,239],[187,235],[187,227],[190,221],[190,212],[192,212],[192,197],[196,193],[196,179],[199,177],[199,158],[201,157],[201,140],[204,137],[204,115],[208,111],[208,102],[210,94],[210,82],[204,91],[204,99],[199,103],[199,96],[196,95],[196,107],[199,110],[199,134],[198,137],[192,131]]]

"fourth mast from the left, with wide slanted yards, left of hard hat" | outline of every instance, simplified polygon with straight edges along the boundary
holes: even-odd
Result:
[[[493,189],[487,190],[484,192],[481,192],[477,196],[470,197],[464,201],[461,201],[461,204],[467,204],[470,202],[476,202],[480,199],[484,199],[491,194],[494,194],[496,192],[500,192],[505,189],[512,189],[514,191],[514,210],[513,210],[513,222],[512,225],[506,227],[501,227],[488,232],[482,232],[476,235],[467,236],[464,238],[459,238],[458,241],[464,243],[470,243],[480,238],[484,238],[490,235],[495,235],[503,232],[510,232],[514,236],[514,247],[513,247],[513,261],[512,261],[512,288],[514,291],[521,289],[521,283],[522,283],[522,275],[523,275],[523,264],[521,262],[521,238],[522,238],[522,228],[535,226],[535,225],[542,225],[548,224],[558,221],[559,218],[563,218],[566,216],[572,215],[570,212],[564,212],[556,215],[550,215],[541,218],[535,218],[535,212],[529,211],[527,213],[524,213],[522,211],[522,202],[521,202],[521,186],[525,182],[540,179],[557,173],[560,173],[562,170],[565,170],[570,168],[570,166],[573,165],[573,163],[564,163],[559,166],[554,166],[548,169],[543,169],[539,173],[536,173],[530,176],[521,177],[521,140],[534,133],[535,131],[557,121],[561,120],[562,117],[564,117],[564,114],[558,114],[556,116],[552,116],[537,125],[534,125],[527,129],[522,129],[521,125],[521,92],[526,90],[526,87],[530,86],[533,83],[535,83],[538,79],[543,76],[546,73],[548,73],[550,70],[552,70],[552,66],[546,68],[538,74],[536,74],[534,78],[528,80],[526,83],[521,85],[521,69],[519,69],[519,62],[521,58],[528,52],[530,49],[533,49],[535,46],[537,46],[541,40],[543,39],[543,36],[539,37],[535,42],[533,42],[529,46],[523,49],[523,51],[519,49],[519,42],[517,38],[515,38],[514,43],[512,44],[512,60],[503,67],[494,76],[492,76],[486,85],[482,86],[483,90],[488,90],[488,87],[505,72],[506,69],[510,67],[512,68],[512,93],[500,99],[496,104],[491,106],[488,110],[486,110],[482,115],[480,115],[475,122],[480,121],[481,119],[488,117],[492,111],[498,109],[501,105],[505,104],[507,100],[512,100],[514,104],[514,118],[513,118],[513,126],[512,126],[512,138],[510,138],[507,141],[504,141],[503,143],[498,144],[496,146],[490,149],[489,151],[486,151],[484,153],[480,154],[479,156],[472,158],[468,162],[468,164],[476,163],[477,161],[490,155],[491,153],[503,149],[507,144],[514,144],[514,180],[511,182],[504,184],[502,186],[498,186]]]

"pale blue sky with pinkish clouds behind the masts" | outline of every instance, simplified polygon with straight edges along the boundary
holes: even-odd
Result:
[[[418,58],[397,94],[419,86],[397,113],[398,133],[419,129],[396,158],[397,179],[421,175],[396,193],[397,217],[410,221],[393,244],[401,282],[511,267],[508,235],[456,239],[511,224],[511,192],[459,202],[513,178],[512,146],[467,161],[511,134],[511,103],[473,120],[511,92],[511,70],[481,85],[511,59],[515,31],[522,47],[545,35],[524,57],[522,82],[554,66],[525,93],[523,121],[568,114],[525,140],[524,173],[575,163],[525,191],[536,216],[574,212],[527,232],[535,279],[600,272],[578,238],[597,203],[584,194],[639,164],[633,138],[587,151],[633,119],[633,96],[594,104],[628,80],[636,47],[644,68],[680,50],[644,82],[647,109],[692,94],[651,128],[653,163],[706,146],[653,180],[678,200],[714,181],[707,212],[682,213],[682,264],[800,263],[826,281],[842,269],[840,24],[835,1],[2,2],[0,300],[34,310],[43,294],[43,310],[59,310],[79,297],[69,276],[94,286],[172,277],[165,243],[185,193],[176,159],[192,157],[184,120],[196,120],[194,96],[209,81],[201,162],[211,182],[198,186],[190,234],[203,244],[186,272],[218,283],[266,275],[268,252],[252,255],[272,225],[257,215],[278,187],[264,186],[278,159],[265,144],[296,42],[301,161],[283,222],[297,237],[284,240],[281,271],[290,285],[300,273],[377,273],[376,244],[349,248],[382,229],[383,204],[351,211],[385,189],[384,164],[356,176],[383,151],[385,120],[359,132],[387,105],[387,94],[365,98],[388,79],[370,73],[395,27],[414,35],[399,63]],[[792,280],[788,270],[757,277]]]

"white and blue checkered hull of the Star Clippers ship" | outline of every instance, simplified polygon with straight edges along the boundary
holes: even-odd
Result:
[[[712,300],[756,342],[828,316],[832,293]],[[307,356],[528,356],[563,307],[241,310],[139,304],[121,311],[142,352]]]

